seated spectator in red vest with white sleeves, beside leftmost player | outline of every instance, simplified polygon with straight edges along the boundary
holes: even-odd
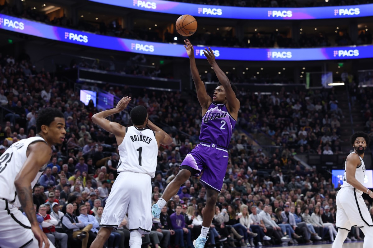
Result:
[[[56,232],[55,226],[58,224],[58,220],[54,219],[53,216],[47,214],[47,206],[41,204],[39,206],[38,215],[44,218],[44,221],[41,222],[41,227],[43,232],[47,235],[48,239],[54,244],[54,240],[57,239],[60,241],[61,248],[68,247],[68,235],[66,233]]]

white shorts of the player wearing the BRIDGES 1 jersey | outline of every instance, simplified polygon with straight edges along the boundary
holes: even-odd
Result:
[[[150,233],[151,177],[144,173],[122,171],[107,198],[100,226],[117,228],[128,213],[129,231]]]

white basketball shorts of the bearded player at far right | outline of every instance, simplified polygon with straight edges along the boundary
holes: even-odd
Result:
[[[345,187],[339,190],[336,203],[336,228],[350,231],[352,226],[358,226],[360,228],[362,228],[364,224],[373,226],[372,218],[370,217],[364,199],[356,189]]]

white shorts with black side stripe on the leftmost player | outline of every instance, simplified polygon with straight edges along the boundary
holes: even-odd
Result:
[[[49,245],[54,248],[50,242]],[[0,247],[39,247],[31,231],[30,221],[17,207],[4,199],[0,199]]]

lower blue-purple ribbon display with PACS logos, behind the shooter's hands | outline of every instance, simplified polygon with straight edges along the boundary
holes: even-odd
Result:
[[[183,45],[137,41],[60,28],[0,14],[0,29],[55,41],[138,54],[188,58]],[[204,46],[194,45],[197,59],[206,59]],[[228,48],[211,47],[216,59],[243,61],[305,61],[373,58],[373,45],[326,48]]]

